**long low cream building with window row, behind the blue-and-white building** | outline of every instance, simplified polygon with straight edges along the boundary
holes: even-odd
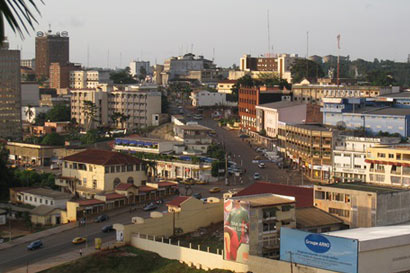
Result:
[[[322,98],[374,98],[381,95],[398,93],[400,88],[380,86],[351,86],[310,84],[304,81],[292,85],[293,100],[302,103],[321,104]]]

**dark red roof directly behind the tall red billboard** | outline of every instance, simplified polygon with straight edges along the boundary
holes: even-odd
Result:
[[[255,182],[249,187],[239,191],[234,196],[246,196],[263,193],[272,193],[295,197],[296,208],[313,207],[313,188],[273,184],[269,182]]]

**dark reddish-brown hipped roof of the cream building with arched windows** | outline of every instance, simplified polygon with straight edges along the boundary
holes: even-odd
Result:
[[[66,161],[89,163],[95,165],[140,164],[142,161],[133,156],[105,150],[88,149],[64,158]]]

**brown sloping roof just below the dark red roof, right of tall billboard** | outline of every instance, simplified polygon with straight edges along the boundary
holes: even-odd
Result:
[[[309,228],[343,224],[343,220],[315,207],[298,208],[296,209],[296,224],[301,228]]]

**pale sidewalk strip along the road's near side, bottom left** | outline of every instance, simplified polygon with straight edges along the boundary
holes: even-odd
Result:
[[[113,246],[115,244],[116,241],[109,241],[106,243],[102,244],[102,248],[109,248],[111,246]],[[29,265],[24,265],[18,269],[14,269],[12,271],[9,271],[10,273],[36,273],[36,272],[40,272],[64,263],[68,263],[68,262],[72,262],[75,261],[77,259],[80,259],[81,257],[84,256],[88,256],[91,254],[94,254],[98,251],[101,250],[96,250],[93,246],[82,249],[83,255],[80,256],[80,252],[78,249],[62,254],[60,256],[57,257],[51,257],[49,259],[34,263],[34,264],[29,264]]]

